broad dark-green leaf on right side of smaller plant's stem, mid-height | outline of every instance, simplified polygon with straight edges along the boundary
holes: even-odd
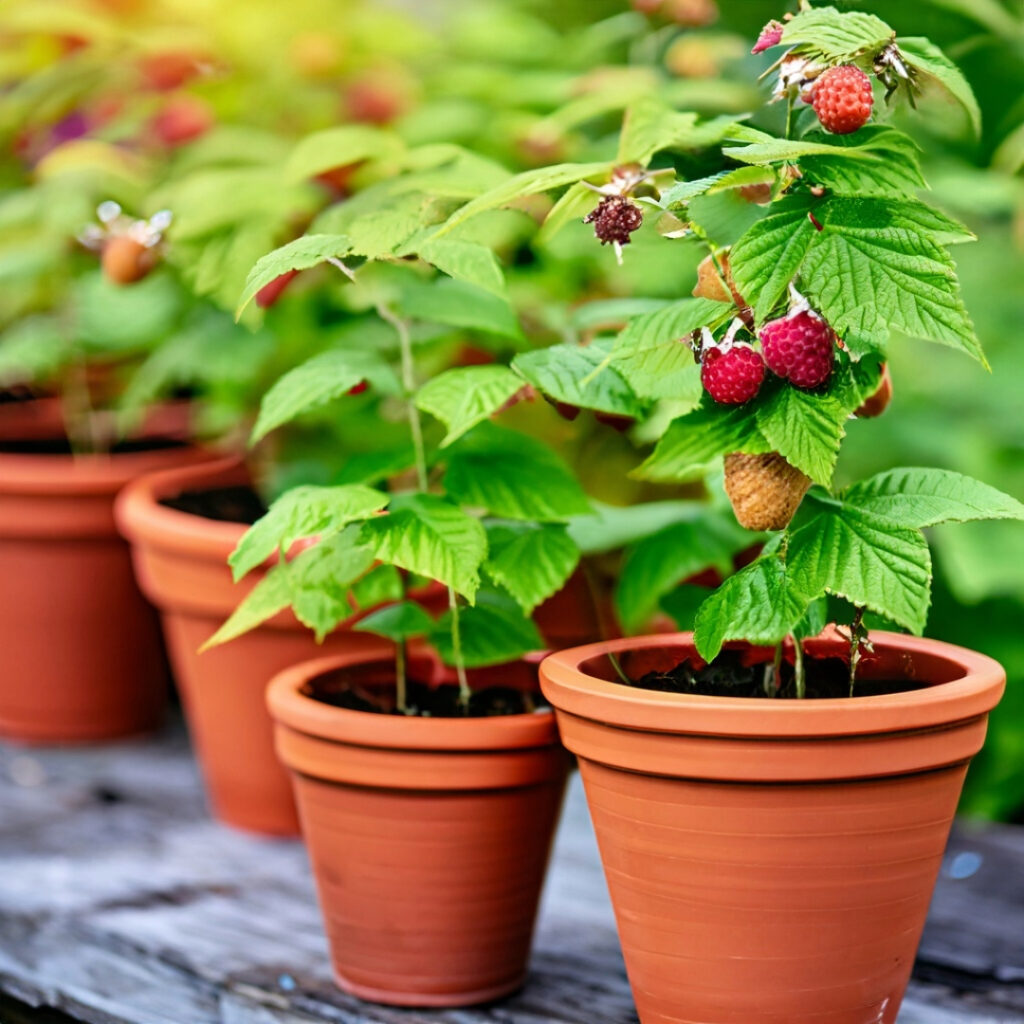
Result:
[[[506,519],[557,522],[590,511],[575,477],[547,444],[493,424],[452,450],[444,487],[459,504]]]

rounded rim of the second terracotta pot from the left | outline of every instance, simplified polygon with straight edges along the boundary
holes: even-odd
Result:
[[[114,507],[118,529],[133,544],[147,544],[185,555],[201,555],[226,563],[249,528],[161,505],[161,499],[179,495],[189,484],[217,481],[224,485],[249,481],[245,461],[232,455],[201,465],[176,466],[132,480]]]

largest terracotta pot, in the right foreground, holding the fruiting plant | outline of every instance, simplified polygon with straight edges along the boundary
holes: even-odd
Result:
[[[852,699],[629,687],[690,634],[548,657],[580,758],[642,1024],[893,1024],[968,761],[1005,674],[890,633],[865,675],[923,689]],[[770,652],[766,652],[770,656]]]

